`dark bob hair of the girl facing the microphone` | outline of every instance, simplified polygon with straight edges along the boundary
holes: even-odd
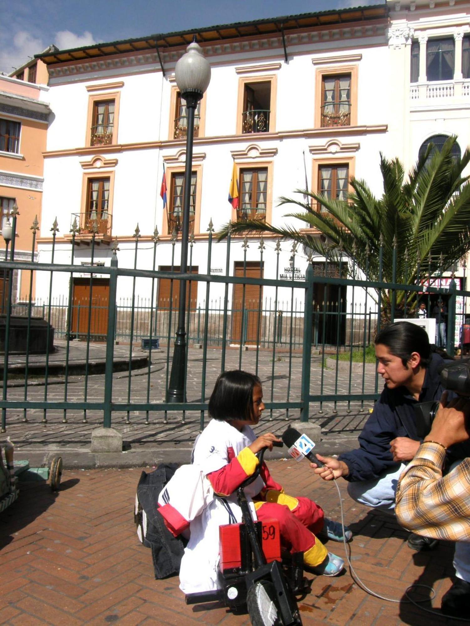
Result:
[[[220,421],[253,419],[253,389],[261,385],[258,376],[241,369],[223,372],[209,400],[209,415]]]

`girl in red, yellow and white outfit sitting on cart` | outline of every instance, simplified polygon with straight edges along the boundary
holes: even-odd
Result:
[[[192,463],[202,469],[214,497],[202,513],[191,521],[191,536],[180,567],[180,588],[184,593],[217,588],[219,526],[241,521],[236,490],[254,473],[255,454],[273,448],[279,439],[272,433],[256,438],[256,426],[263,413],[263,389],[258,376],[241,370],[227,371],[216,382],[209,414],[211,421],[197,437]],[[281,542],[292,553],[303,552],[308,571],[336,576],[344,567],[340,557],[328,552],[318,533],[333,541],[343,541],[342,526],[327,520],[323,510],[308,498],[293,498],[283,492],[263,463],[260,475],[245,488],[253,518],[277,519]],[[352,532],[346,528],[347,541]]]

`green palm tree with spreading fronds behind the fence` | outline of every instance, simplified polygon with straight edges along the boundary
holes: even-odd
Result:
[[[232,233],[271,232],[329,260],[347,257],[350,275],[360,270],[370,280],[419,284],[434,272],[446,270],[470,249],[470,184],[469,177],[462,176],[470,151],[467,148],[461,158],[452,155],[456,139],[449,137],[441,151],[429,145],[407,180],[399,159],[387,160],[380,153],[384,180],[380,198],[357,178],[350,180],[353,192],[348,200],[298,189],[295,193],[326,209],[318,212],[308,201],[279,198],[279,206],[301,208],[285,217],[306,222],[306,228],[275,227],[256,220],[232,222],[218,233],[219,240],[226,237],[229,227]],[[395,292],[395,304],[398,309],[413,307],[415,297],[415,293]],[[385,291],[383,310],[389,306],[390,293]]]

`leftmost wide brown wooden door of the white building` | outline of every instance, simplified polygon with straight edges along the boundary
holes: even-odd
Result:
[[[73,304],[70,334],[86,337],[90,320],[90,339],[103,341],[108,332],[109,279],[95,278],[91,287],[90,279],[73,279]]]

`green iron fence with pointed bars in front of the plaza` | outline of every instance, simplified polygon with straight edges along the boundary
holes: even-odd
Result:
[[[16,219],[17,216],[13,215],[13,230],[16,229]],[[243,273],[229,275],[231,235],[226,242],[216,244],[212,241],[211,228],[207,242],[191,242],[189,269],[184,275],[174,269],[175,238],[172,241],[170,270],[158,269],[161,245],[158,233],[153,238],[152,267],[139,268],[138,230],[131,268],[118,265],[117,241],[110,250],[110,265],[94,267],[97,233],[91,237],[90,264],[76,264],[76,237],[79,234],[76,228],[71,231],[71,262],[59,264],[55,260],[56,250],[61,245],[56,242],[56,223],[51,229],[50,261],[41,262],[39,259],[39,262],[34,262],[37,230],[37,224],[36,227],[33,225],[29,262],[14,260],[14,237],[9,260],[0,262],[0,280],[3,275],[4,291],[8,291],[4,313],[0,316],[0,342],[3,340],[4,349],[0,401],[3,431],[8,425],[8,417],[18,417],[20,413],[24,421],[41,418],[39,421],[43,424],[50,419],[61,419],[67,423],[78,419],[77,416],[87,421],[93,414],[101,416],[103,425],[110,427],[122,419],[127,424],[142,419],[148,424],[150,417],[159,416],[165,422],[169,416],[177,416],[184,422],[187,413],[191,412],[192,416],[199,416],[202,426],[207,414],[207,399],[216,376],[231,367],[250,369],[261,375],[270,418],[275,411],[285,411],[286,416],[300,414],[300,418],[306,421],[312,409],[322,413],[325,403],[331,403],[333,411],[337,411],[338,403],[345,403],[348,411],[352,406],[361,411],[365,402],[372,402],[379,394],[379,380],[377,374],[373,374],[373,364],[367,364],[366,349],[383,323],[383,312],[381,316],[379,311],[381,294],[385,292],[392,294],[392,317],[396,317],[397,313],[393,294],[399,291],[415,294],[415,302],[424,300],[428,310],[437,299],[445,301],[447,351],[454,354],[455,347],[464,343],[461,336],[466,322],[466,299],[470,294],[457,289],[452,277],[444,280],[442,272],[438,276],[420,275],[415,285],[373,281],[367,275],[362,280],[353,280],[346,277],[342,267],[345,262],[340,261],[339,267],[332,271],[328,262],[315,262],[310,257],[305,278],[293,272],[291,279],[286,279],[285,275],[281,277],[279,268],[281,244],[278,241],[276,268],[271,273],[273,278],[253,277],[246,272],[248,243],[244,240]],[[206,274],[192,274],[194,245],[207,246]],[[211,275],[211,254],[216,245],[224,246],[226,250],[226,272],[221,275]],[[263,267],[263,238],[259,240],[258,249],[259,267]],[[295,256],[294,246],[291,250],[293,267]],[[15,301],[14,280],[10,279],[18,270],[31,270],[29,294],[22,302]],[[77,272],[87,277],[89,297],[84,304],[75,304],[73,299],[73,275]],[[98,272],[99,279],[96,277]],[[464,283],[465,269],[463,272]],[[53,281],[58,274],[69,277],[67,294],[53,295]],[[33,284],[39,275],[42,285],[44,276],[48,277],[48,297],[34,300]],[[93,289],[98,289],[103,276],[108,280],[108,300],[105,304],[93,302],[92,297]],[[187,307],[186,327],[191,346],[188,349],[191,367],[188,368],[185,389],[187,401],[174,404],[167,403],[165,391],[169,382],[170,352],[177,317],[173,294],[179,291],[181,279],[191,284],[202,284],[205,297],[201,302],[192,300]],[[132,285],[129,297],[117,297],[120,280]],[[145,293],[149,294],[144,299],[136,292],[136,280],[140,282],[141,292],[144,281]],[[170,295],[166,302],[157,298],[159,280],[170,280]],[[188,289],[190,294],[191,284]],[[219,285],[224,297],[212,297],[214,285]],[[235,285],[239,285],[241,296],[238,302],[230,305],[231,290]],[[258,289],[260,294],[263,289],[269,288],[273,295],[249,300],[246,297],[248,287]],[[280,289],[284,290],[283,294],[287,289],[290,297],[283,295],[280,299]],[[415,310],[412,307],[407,310],[405,305],[400,310],[400,316],[415,316]],[[43,331],[46,333],[46,350],[40,357],[31,350],[33,326],[38,318],[47,322]],[[24,354],[15,356],[11,353],[11,341],[19,320],[23,324],[25,348]],[[148,351],[143,360],[137,359],[140,367],[137,377],[133,372],[135,351],[136,344],[139,346],[142,339],[147,342]],[[159,348],[155,339],[159,339]],[[77,374],[76,364],[79,346],[80,375]],[[96,363],[99,346],[101,369]],[[357,366],[353,361],[353,349],[361,354]],[[343,352],[347,356],[345,361],[340,361]],[[118,369],[127,372],[125,382],[122,382],[122,377],[117,381]]]

